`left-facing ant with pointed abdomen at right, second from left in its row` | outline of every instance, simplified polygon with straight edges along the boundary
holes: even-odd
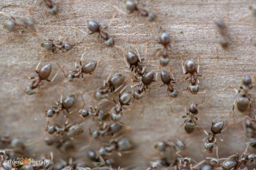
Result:
[[[69,82],[76,82],[80,75],[82,74],[82,79],[83,79],[83,73],[84,74],[93,74],[94,70],[96,69],[97,67],[97,64],[101,61],[101,60],[98,60],[97,62],[89,62],[87,64],[84,64],[82,66],[82,59],[83,59],[83,56],[85,54],[85,51],[87,49],[87,45],[84,47],[84,52],[83,52],[83,55],[80,59],[80,67],[77,67],[76,70],[72,71],[72,74],[68,74],[66,75],[65,74],[65,71],[59,66],[59,64],[57,63],[57,65],[60,67],[60,69],[63,71],[63,74],[65,76],[65,78],[69,81]],[[75,64],[76,65],[76,64]],[[76,80],[74,80],[74,78],[77,78]],[[83,79],[84,80],[84,79]]]

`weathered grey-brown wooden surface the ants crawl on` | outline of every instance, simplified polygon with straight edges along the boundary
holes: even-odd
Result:
[[[109,36],[115,41],[116,46],[120,46],[124,51],[132,50],[135,52],[133,42],[136,42],[140,55],[143,59],[143,64],[148,63],[147,70],[156,72],[159,63],[159,58],[155,57],[161,44],[158,44],[155,39],[158,39],[161,31],[166,30],[171,36],[174,34],[174,43],[171,51],[169,66],[172,68],[172,73],[176,80],[182,75],[180,55],[184,54],[183,59],[193,58],[196,60],[197,55],[200,56],[200,74],[205,74],[214,71],[214,74],[199,78],[200,92],[205,91],[206,104],[200,106],[199,115],[202,118],[197,122],[200,130],[195,130],[194,133],[188,135],[184,131],[184,127],[180,125],[184,122],[178,114],[171,112],[168,103],[172,100],[167,96],[166,86],[162,88],[153,87],[147,91],[146,96],[141,100],[146,108],[144,114],[140,114],[142,106],[138,102],[134,102],[128,106],[131,111],[124,111],[124,116],[121,122],[124,122],[131,130],[125,135],[135,143],[135,151],[132,154],[126,154],[123,158],[116,158],[116,166],[136,165],[140,169],[149,166],[149,162],[153,161],[150,153],[154,152],[154,142],[162,139],[176,139],[182,141],[188,139],[191,143],[180,154],[189,156],[199,162],[206,157],[216,157],[214,153],[208,154],[204,151],[204,142],[202,139],[206,137],[203,133],[203,128],[210,131],[211,122],[217,116],[227,114],[232,107],[237,94],[228,87],[229,84],[234,87],[239,87],[239,84],[244,74],[255,74],[255,54],[256,54],[256,18],[253,17],[248,10],[253,0],[194,0],[194,1],[173,1],[173,0],[149,0],[140,1],[140,6],[148,11],[157,13],[157,20],[152,23],[155,37],[150,29],[149,23],[135,13],[128,16],[123,15],[111,5],[116,5],[124,10],[121,1],[85,1],[85,0],[69,0],[57,1],[59,7],[59,16],[45,16],[44,4],[40,5],[40,1],[24,1],[24,0],[0,0],[0,7],[4,5],[13,5],[2,8],[0,12],[7,15],[12,15],[15,19],[25,19],[33,17],[37,23],[38,33],[52,40],[57,40],[64,29],[63,38],[69,35],[68,42],[76,42],[74,49],[67,53],[58,53],[46,56],[39,68],[44,64],[52,62],[52,75],[58,70],[55,61],[61,65],[65,65],[64,70],[73,70],[76,57],[80,59],[83,53],[84,45],[87,44],[86,55],[82,63],[91,60],[102,61],[98,64],[93,75],[85,75],[88,81],[79,80],[71,83],[64,81],[64,76],[60,72],[54,82],[43,82],[41,94],[32,96],[25,95],[21,90],[26,87],[26,84],[32,82],[24,76],[36,76],[35,67],[37,66],[42,55],[37,53],[42,52],[40,43],[45,39],[33,35],[31,32],[25,32],[22,36],[22,41],[19,41],[18,32],[6,32],[0,30],[0,41],[2,44],[0,53],[0,136],[10,136],[22,138],[24,141],[30,140],[27,143],[28,155],[35,154],[38,157],[40,154],[54,151],[54,159],[59,158],[67,160],[68,157],[74,156],[76,159],[86,159],[85,151],[79,151],[79,148],[87,145],[90,140],[89,130],[97,127],[97,122],[92,123],[92,120],[87,120],[82,126],[86,130],[79,138],[76,138],[75,153],[63,153],[54,147],[46,146],[40,139],[44,132],[42,130],[47,122],[44,117],[43,106],[46,108],[54,106],[54,99],[60,98],[61,86],[64,85],[63,95],[76,94],[77,102],[72,108],[74,113],[72,119],[75,123],[82,123],[76,112],[82,107],[80,92],[83,94],[89,93],[93,95],[94,91],[101,87],[103,80],[109,74],[113,66],[116,66],[114,73],[121,72],[125,74],[125,78],[131,76],[129,73],[118,66],[126,67],[123,55],[117,48],[107,48],[103,41],[95,35],[86,35],[71,26],[79,27],[85,32],[89,32],[86,27],[86,21],[91,19],[97,21],[102,27],[109,24],[113,15],[117,16],[113,19],[112,24],[106,29]],[[27,9],[30,6],[31,15],[27,14]],[[75,16],[72,8],[74,8]],[[229,35],[230,46],[223,50],[219,45],[219,33],[214,21],[222,19],[226,24],[226,31]],[[6,21],[11,20],[9,17],[0,16],[1,25]],[[181,31],[183,33],[181,33]],[[147,56],[144,57],[146,44],[148,45]],[[218,61],[217,61],[218,55]],[[127,68],[128,69],[128,68]],[[159,68],[159,71],[166,68]],[[113,74],[114,74],[113,73]],[[159,72],[160,73],[160,72]],[[158,80],[160,76],[158,74]],[[188,82],[175,84],[176,89],[186,89]],[[130,88],[128,87],[127,90]],[[133,89],[134,91],[135,89]],[[255,88],[250,92],[252,97],[255,97]],[[118,98],[118,94],[113,95]],[[202,94],[191,95],[184,94],[183,97],[178,96],[172,104],[174,111],[185,115],[184,106],[197,101],[202,102]],[[89,108],[90,96],[84,96],[86,107]],[[112,101],[108,104],[109,108],[114,106]],[[101,106],[99,106],[101,107]],[[253,104],[255,108],[255,104]],[[238,117],[242,117],[235,110]],[[35,121],[35,118],[38,121]],[[232,117],[225,118],[225,124],[228,124]],[[43,120],[43,121],[42,121]],[[65,122],[66,118],[60,114],[54,122]],[[61,124],[61,123],[60,123]],[[225,125],[226,126],[226,125]],[[226,158],[233,153],[242,153],[245,150],[244,138],[245,131],[242,127],[242,122],[231,125],[225,132],[218,136],[224,139],[224,142],[218,141],[219,155],[221,158]],[[255,149],[249,148],[249,152],[254,152]],[[60,156],[61,155],[61,156]],[[117,157],[117,156],[113,156]]]

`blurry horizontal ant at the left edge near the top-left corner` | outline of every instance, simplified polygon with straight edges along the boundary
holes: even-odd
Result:
[[[3,24],[3,29],[8,32],[19,31],[19,40],[21,41],[22,33],[25,32],[26,28],[35,28],[35,22],[32,19],[26,21],[16,21],[13,16],[0,13],[0,15],[11,17],[13,21],[7,21]]]

